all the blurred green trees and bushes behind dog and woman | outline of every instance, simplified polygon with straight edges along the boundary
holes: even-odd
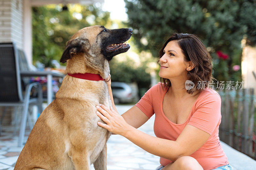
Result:
[[[135,82],[148,89],[158,77],[158,50],[174,32],[193,33],[212,55],[213,76],[242,81],[241,41],[256,44],[256,3],[253,0],[124,0],[127,21],[110,19],[100,4],[33,7],[33,63],[53,67],[77,30],[92,25],[133,29],[131,49],[111,61],[112,81]],[[115,8],[113,4],[113,8]],[[155,72],[153,74],[153,72]],[[143,94],[140,92],[140,94]]]

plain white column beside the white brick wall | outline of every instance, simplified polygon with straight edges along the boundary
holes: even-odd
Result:
[[[32,12],[30,0],[23,0],[23,50],[32,64]]]

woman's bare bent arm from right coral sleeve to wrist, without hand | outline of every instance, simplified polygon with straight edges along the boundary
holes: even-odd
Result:
[[[102,127],[107,127],[106,124],[101,123],[101,125],[103,125]],[[118,134],[118,132],[116,133]],[[210,134],[207,132],[189,124],[185,126],[176,141],[152,137],[131,126],[128,126],[120,135],[126,137],[145,151],[172,161],[182,156],[193,154],[205,144],[210,137]]]

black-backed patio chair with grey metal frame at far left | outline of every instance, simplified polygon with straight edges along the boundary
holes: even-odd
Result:
[[[13,42],[0,43],[0,106],[14,107],[15,121],[17,126],[17,107],[22,106],[22,116],[20,121],[20,133],[18,146],[22,146],[28,117],[28,106],[37,105],[41,113],[43,104],[42,87],[39,83],[26,85],[25,92],[22,92],[20,78],[20,57],[19,52]],[[37,87],[37,96],[30,98],[32,87]],[[23,94],[22,94],[23,93]],[[4,114],[4,113],[3,113]],[[15,128],[16,129],[16,128]],[[1,124],[0,124],[1,132]]]

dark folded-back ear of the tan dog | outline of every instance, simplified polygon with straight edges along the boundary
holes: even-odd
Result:
[[[86,38],[76,38],[67,42],[66,49],[61,55],[60,62],[66,63],[66,61],[80,52],[85,52],[90,48],[89,40]]]

